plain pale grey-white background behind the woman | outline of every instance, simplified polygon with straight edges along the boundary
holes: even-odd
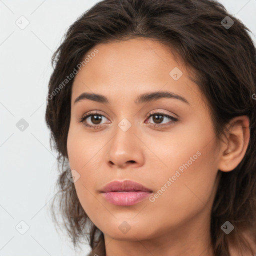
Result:
[[[57,171],[44,112],[52,52],[67,27],[96,2],[0,0],[0,256],[88,251],[85,246],[75,252],[49,217]],[[255,42],[256,0],[220,2],[252,31]],[[15,23],[21,15],[29,21],[24,29]],[[21,118],[29,125],[23,131],[16,127]],[[21,220],[29,226],[24,234],[15,229],[25,230]]]

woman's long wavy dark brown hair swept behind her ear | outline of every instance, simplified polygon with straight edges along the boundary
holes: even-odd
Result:
[[[102,0],[68,28],[52,56],[45,120],[59,163],[59,193],[51,204],[52,216],[58,222],[60,213],[74,246],[87,237],[93,253],[105,254],[103,233],[84,212],[74,184],[66,177],[73,78],[65,78],[96,44],[136,37],[157,40],[194,70],[216,138],[221,139],[231,118],[249,117],[250,139],[243,159],[232,171],[219,171],[210,233],[216,256],[230,255],[231,243],[237,249],[250,248],[241,235],[244,230],[250,230],[256,243],[256,53],[248,31],[214,0]],[[220,228],[226,220],[234,225],[228,235]]]

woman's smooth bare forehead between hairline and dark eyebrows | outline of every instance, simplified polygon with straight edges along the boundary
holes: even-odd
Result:
[[[97,54],[90,55],[95,49]],[[188,98],[200,96],[197,85],[188,78],[187,67],[155,40],[136,38],[97,44],[86,56],[87,62],[73,82],[72,101],[84,91],[114,98],[135,98],[136,94],[155,90],[170,90]],[[180,77],[173,79],[173,72]]]

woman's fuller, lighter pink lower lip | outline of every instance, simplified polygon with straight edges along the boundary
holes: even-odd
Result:
[[[121,191],[121,192],[103,192],[102,195],[107,201],[115,205],[132,205],[144,200],[150,195],[147,191]]]

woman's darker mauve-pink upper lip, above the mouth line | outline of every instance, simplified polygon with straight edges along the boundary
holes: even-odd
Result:
[[[132,180],[123,180],[118,181],[114,180],[107,183],[100,192],[110,192],[110,191],[148,191],[152,192],[151,189],[143,186],[142,184],[132,181]]]

